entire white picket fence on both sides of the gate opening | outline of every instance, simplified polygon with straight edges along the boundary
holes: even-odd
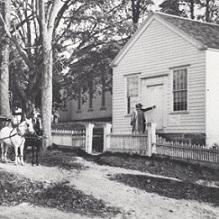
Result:
[[[93,124],[86,130],[52,130],[53,143],[62,146],[76,146],[92,153]],[[147,124],[147,134],[113,133],[112,125],[104,126],[103,151],[152,154],[219,163],[219,148],[207,148],[201,145],[167,142],[156,136],[156,124]]]

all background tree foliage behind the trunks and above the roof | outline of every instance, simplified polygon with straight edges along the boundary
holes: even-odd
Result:
[[[50,3],[47,3],[48,12]],[[94,92],[100,92],[103,78],[105,89],[111,90],[109,64],[154,3],[153,0],[65,0],[53,32],[53,101],[61,101],[59,81],[63,79],[69,98],[77,97],[78,88],[85,94],[91,80]],[[35,1],[11,0],[11,5],[12,105],[21,102],[24,110],[28,110],[41,104],[43,51],[39,14]],[[218,22],[216,0],[164,0],[159,6],[165,13]],[[3,27],[0,31],[1,46],[5,40]]]

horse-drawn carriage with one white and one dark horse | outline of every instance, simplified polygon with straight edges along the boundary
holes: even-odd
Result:
[[[42,129],[38,118],[25,119],[13,127],[11,119],[0,115],[1,159],[7,162],[8,149],[14,148],[15,164],[24,164],[25,149],[32,148],[32,165],[34,158],[38,165],[39,148],[41,146]]]

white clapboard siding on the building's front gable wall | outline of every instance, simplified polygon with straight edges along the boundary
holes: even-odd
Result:
[[[170,120],[176,115],[172,114],[170,68],[183,65],[189,65],[189,110],[187,114],[177,114],[179,123],[173,125]],[[165,91],[165,132],[205,132],[205,51],[198,50],[159,21],[153,20],[113,71],[113,129],[115,131],[131,129],[130,117],[125,112],[124,75],[141,72],[141,77],[161,73],[168,75]],[[142,92],[141,88],[140,92]],[[144,94],[140,94],[139,101],[143,101],[143,96]]]

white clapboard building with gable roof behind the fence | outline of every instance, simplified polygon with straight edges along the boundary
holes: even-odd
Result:
[[[219,143],[219,26],[152,13],[113,67],[113,132],[131,131],[137,102],[157,133]]]

